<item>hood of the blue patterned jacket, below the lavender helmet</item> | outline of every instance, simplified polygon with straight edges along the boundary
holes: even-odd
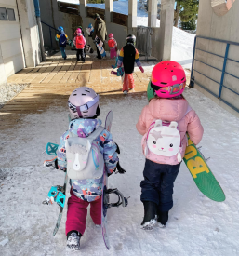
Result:
[[[102,124],[100,119],[74,119],[69,124],[69,130],[78,137],[88,137],[96,128]]]

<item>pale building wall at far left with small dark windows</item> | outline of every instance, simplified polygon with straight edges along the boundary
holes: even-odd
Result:
[[[13,8],[16,21],[0,20],[0,85],[25,66],[16,0],[0,0],[0,7]]]

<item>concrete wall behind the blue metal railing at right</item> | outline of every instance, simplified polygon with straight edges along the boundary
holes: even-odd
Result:
[[[232,8],[223,16],[218,16],[213,11],[211,7],[211,1],[200,0],[199,1],[199,14],[197,20],[197,35],[212,37],[222,40],[229,40],[232,42],[239,43],[239,22],[238,22],[238,13],[239,13],[239,1],[235,1],[232,5]],[[206,39],[197,39],[197,46],[200,49],[216,53],[218,55],[225,55],[226,44],[209,41]],[[229,48],[229,58],[232,58],[235,61],[239,61],[239,47],[231,46]],[[223,67],[223,58],[208,54],[203,51],[196,50],[195,59],[199,61],[206,62],[209,65],[215,66],[222,70]],[[220,82],[221,73],[205,64],[195,61],[194,68],[200,73],[206,74],[206,76],[214,79],[217,82]],[[239,76],[239,63],[234,61],[227,61],[226,72]],[[206,78],[202,74],[193,72],[195,81],[198,84],[203,85],[216,95],[219,95],[219,84]],[[228,88],[232,88],[237,93],[239,93],[238,79],[233,78],[229,74],[224,76],[224,85]],[[214,97],[212,94],[208,93],[205,89],[195,84],[195,88],[198,88],[206,96],[211,98],[213,101],[216,101],[219,105],[229,110],[232,114],[238,115],[238,112],[234,111],[231,107],[219,101],[218,98]],[[234,107],[239,109],[239,96],[233,94],[227,88],[222,89],[221,99],[229,101]]]

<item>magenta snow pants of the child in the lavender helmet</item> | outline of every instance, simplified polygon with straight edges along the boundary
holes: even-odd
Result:
[[[90,216],[96,225],[101,224],[101,197],[93,202],[86,202],[71,190],[71,197],[68,199],[68,211],[66,220],[66,235],[72,230],[84,234],[86,230],[87,207],[90,204]]]

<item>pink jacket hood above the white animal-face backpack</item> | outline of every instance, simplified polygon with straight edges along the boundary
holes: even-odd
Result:
[[[185,99],[152,99],[149,109],[153,118],[171,122],[181,120],[187,113],[188,105]]]

